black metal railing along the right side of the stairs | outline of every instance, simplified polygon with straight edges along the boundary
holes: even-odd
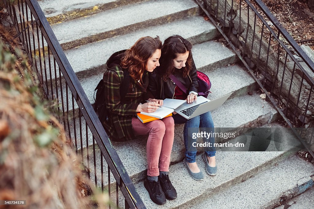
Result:
[[[311,59],[261,0],[196,2],[314,157],[310,149],[314,143]]]

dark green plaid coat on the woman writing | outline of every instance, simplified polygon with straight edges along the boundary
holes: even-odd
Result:
[[[121,58],[124,51],[114,53],[107,61],[107,71],[104,73],[105,103],[108,110],[108,119],[103,126],[113,141],[127,141],[135,139],[132,129],[132,118],[137,117],[136,109],[140,103],[148,99],[148,74],[143,75],[143,85],[131,78],[127,94],[123,101],[120,98],[120,87],[123,83],[124,69],[121,67]]]

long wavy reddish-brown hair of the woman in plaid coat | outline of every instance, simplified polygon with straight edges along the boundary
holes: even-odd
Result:
[[[121,65],[129,70],[131,78],[143,83],[142,77],[147,68],[147,61],[161,47],[162,43],[158,36],[156,38],[150,36],[142,37],[125,51]]]

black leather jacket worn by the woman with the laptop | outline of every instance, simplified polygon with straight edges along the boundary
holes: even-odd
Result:
[[[186,78],[183,77],[181,69],[176,69],[173,75],[187,88],[187,92],[198,92],[197,72],[194,61],[192,66],[193,68]],[[154,72],[149,73],[148,89],[155,99],[173,99],[176,84],[170,78],[164,81],[160,74],[160,69],[158,68],[159,67],[157,67]]]

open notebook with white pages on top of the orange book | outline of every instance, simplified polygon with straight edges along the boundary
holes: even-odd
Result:
[[[141,114],[161,119],[172,113],[177,107],[179,107],[185,102],[187,101],[181,99],[165,99],[164,105],[158,108],[155,112],[152,113],[141,112]]]

